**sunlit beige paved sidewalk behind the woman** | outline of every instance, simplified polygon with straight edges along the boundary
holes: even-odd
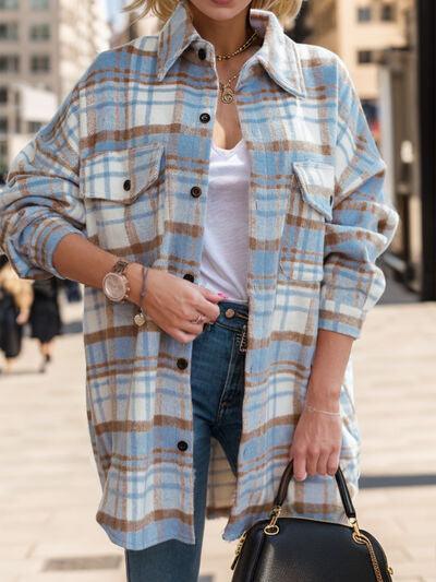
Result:
[[[66,306],[68,320],[81,310]],[[435,346],[436,302],[377,306],[353,346],[363,436],[355,506],[395,581],[436,582]],[[46,375],[38,364],[26,337],[15,373],[0,376],[0,580],[125,582],[123,550],[95,521],[82,335],[57,338]],[[231,579],[235,543],[221,539],[225,523],[206,523],[202,582]]]

